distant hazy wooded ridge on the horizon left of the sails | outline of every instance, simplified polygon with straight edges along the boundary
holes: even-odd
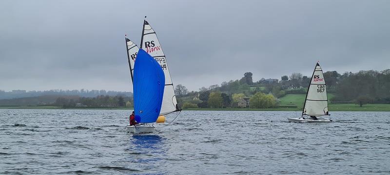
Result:
[[[57,96],[80,96],[80,97],[97,97],[99,95],[108,95],[108,96],[133,96],[132,92],[125,91],[113,91],[113,90],[88,90],[88,89],[80,89],[80,90],[62,90],[62,89],[52,89],[52,90],[43,90],[43,91],[26,91],[26,90],[12,90],[6,92],[4,90],[0,90],[0,99],[13,99],[13,98],[24,98],[24,97],[38,97],[45,95],[57,95]]]

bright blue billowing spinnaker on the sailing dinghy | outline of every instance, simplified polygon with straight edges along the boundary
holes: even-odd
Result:
[[[164,71],[151,55],[139,49],[133,77],[136,121],[138,123],[156,122],[164,95]]]

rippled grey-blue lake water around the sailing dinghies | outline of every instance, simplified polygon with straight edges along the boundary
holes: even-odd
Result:
[[[130,112],[0,109],[0,174],[390,174],[390,112],[182,111],[138,135]]]

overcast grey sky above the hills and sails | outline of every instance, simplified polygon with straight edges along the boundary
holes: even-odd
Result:
[[[0,89],[132,91],[124,35],[155,29],[189,90],[390,68],[389,0],[1,0]],[[139,44],[138,44],[139,45]]]

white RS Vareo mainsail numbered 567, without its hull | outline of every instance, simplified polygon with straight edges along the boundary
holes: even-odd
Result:
[[[323,116],[328,114],[328,95],[326,93],[326,84],[324,74],[320,65],[315,66],[310,86],[306,95],[305,105],[303,106],[302,116]]]

